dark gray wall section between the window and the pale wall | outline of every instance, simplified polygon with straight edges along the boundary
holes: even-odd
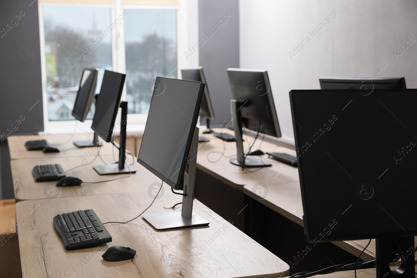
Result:
[[[218,127],[230,115],[231,92],[226,68],[239,68],[239,13],[238,0],[199,0],[198,33],[199,41],[206,42],[200,47],[200,66],[204,68],[208,90],[214,107],[216,119],[212,127]],[[231,11],[229,20],[219,24],[219,20]],[[208,34],[211,28],[221,26],[214,35]],[[209,37],[211,35],[211,37]],[[203,125],[205,123],[202,123]],[[231,126],[231,123],[229,124]]]

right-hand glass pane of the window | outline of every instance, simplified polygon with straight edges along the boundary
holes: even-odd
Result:
[[[175,9],[127,9],[128,113],[148,113],[156,76],[177,77]]]

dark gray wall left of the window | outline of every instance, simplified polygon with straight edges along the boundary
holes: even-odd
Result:
[[[23,16],[16,21],[19,15]],[[2,1],[1,30],[0,136],[43,131],[38,1],[32,4],[22,0]],[[9,150],[3,138],[0,139],[0,199],[14,198]]]

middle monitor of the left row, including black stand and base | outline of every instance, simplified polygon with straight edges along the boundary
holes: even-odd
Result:
[[[95,113],[91,128],[106,142],[111,142],[117,112],[119,107],[122,108],[119,162],[116,164],[95,165],[94,170],[100,175],[136,173],[136,170],[131,165],[125,163],[127,102],[120,102],[125,78],[126,74],[105,70],[100,88],[100,97],[95,105]]]

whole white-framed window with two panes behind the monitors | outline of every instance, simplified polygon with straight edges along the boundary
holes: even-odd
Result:
[[[188,60],[178,50],[198,41],[197,3],[39,0],[45,133],[90,132],[93,107],[85,123],[71,116],[84,68],[99,69],[96,93],[104,70],[126,73],[128,131],[142,131],[156,76],[178,78],[181,68],[198,66],[198,55]]]

